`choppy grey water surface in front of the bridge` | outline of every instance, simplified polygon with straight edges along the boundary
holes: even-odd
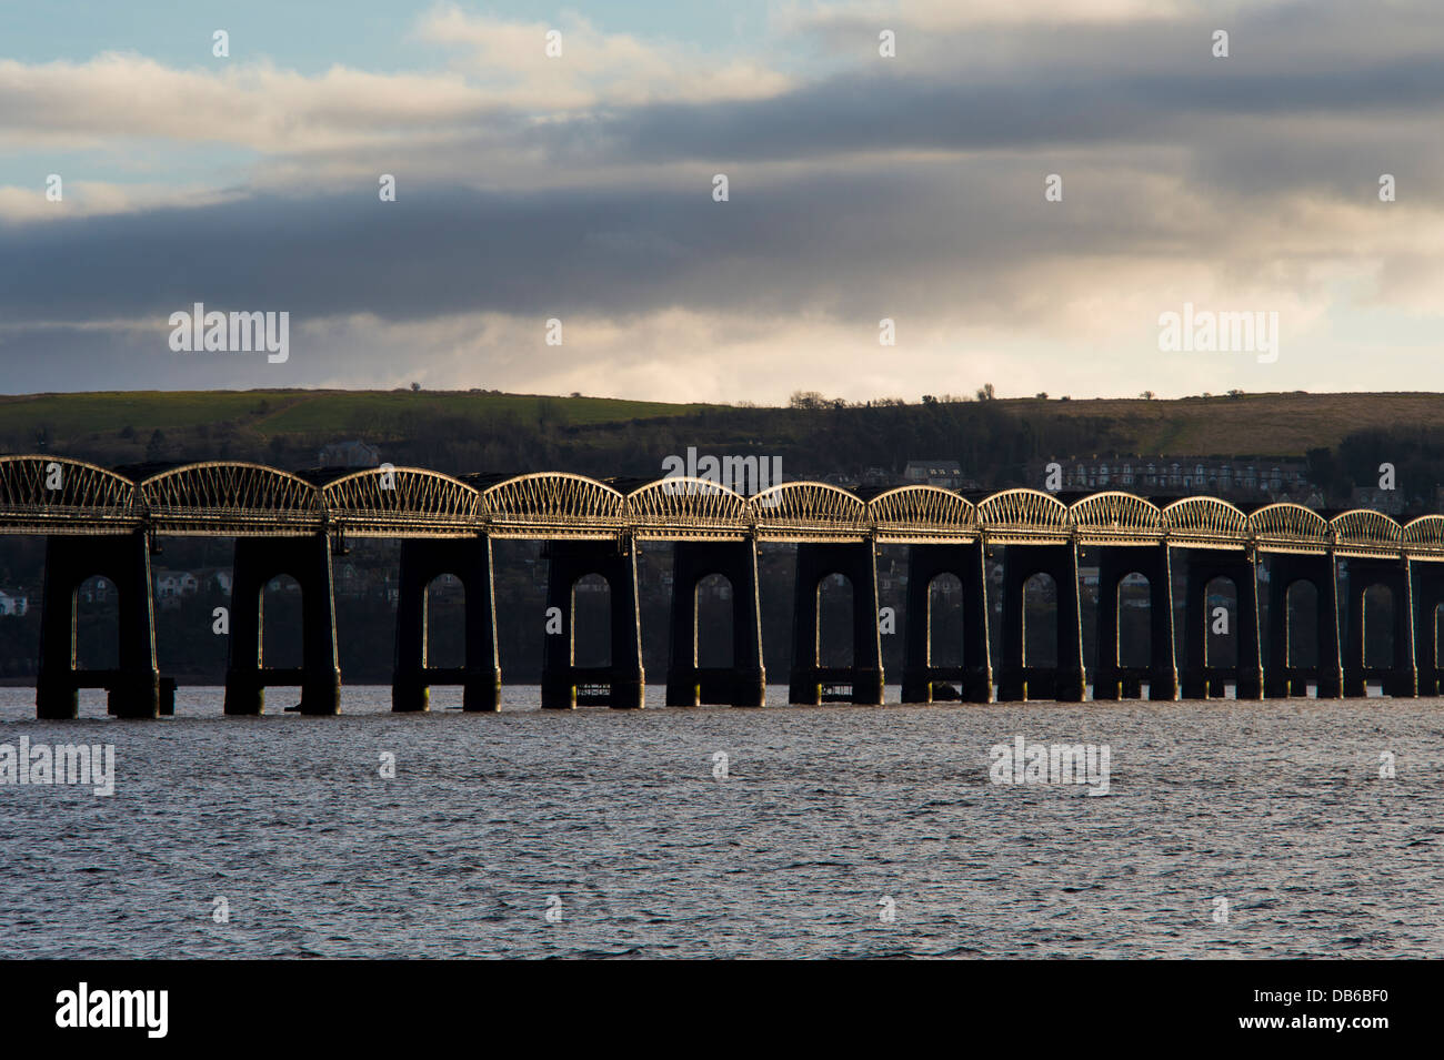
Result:
[[[500,715],[442,691],[393,715],[390,689],[348,688],[336,718],[224,718],[218,689],[183,688],[157,723],[87,694],[84,720],[39,723],[33,691],[0,689],[0,743],[117,757],[111,798],[0,786],[0,956],[1444,953],[1437,699],[552,712],[507,694]],[[1018,734],[1108,744],[1112,793],[989,783]]]

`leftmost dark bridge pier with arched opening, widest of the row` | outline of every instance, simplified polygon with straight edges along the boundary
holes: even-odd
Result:
[[[75,593],[92,575],[110,578],[120,594],[120,658],[114,671],[75,669]],[[150,548],[143,531],[46,539],[36,717],[78,717],[82,686],[108,689],[108,711],[117,717],[160,714],[152,584]]]

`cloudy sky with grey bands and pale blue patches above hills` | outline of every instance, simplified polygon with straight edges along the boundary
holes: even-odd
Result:
[[[0,3],[0,392],[1440,389],[1441,104],[1437,0]]]

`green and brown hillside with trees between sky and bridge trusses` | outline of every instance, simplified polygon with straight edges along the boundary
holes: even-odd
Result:
[[[1415,489],[1444,482],[1444,395],[1249,394],[1161,399],[933,401],[757,408],[490,391],[215,391],[0,397],[0,451],[117,466],[258,460],[310,467],[361,438],[396,464],[442,472],[563,469],[657,474],[669,456],[775,456],[786,476],[894,479],[908,460],[957,460],[992,487],[1070,457],[1318,457],[1347,496],[1382,460]],[[1318,456],[1321,450],[1328,453]],[[1330,456],[1331,454],[1331,456]],[[1419,495],[1422,496],[1422,493]]]

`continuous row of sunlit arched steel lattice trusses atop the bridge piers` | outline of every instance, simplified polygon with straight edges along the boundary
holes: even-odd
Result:
[[[1444,515],[1406,526],[1354,509],[1326,521],[1301,505],[1245,515],[1217,498],[1164,509],[1132,493],[1071,508],[1034,489],[973,506],[939,486],[898,486],[872,500],[822,482],[744,498],[706,479],[666,477],[630,493],[565,472],[471,485],[420,467],[370,467],[315,485],[263,464],[215,460],[137,482],[81,460],[0,456],[0,532],[303,536],[469,536],[650,541],[878,541],[1148,545],[1444,561]]]

